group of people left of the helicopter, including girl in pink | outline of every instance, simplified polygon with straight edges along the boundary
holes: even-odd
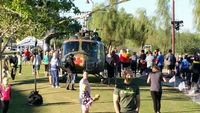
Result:
[[[45,75],[49,78],[49,84],[52,87],[60,88],[58,79],[59,69],[59,52],[46,52],[43,56],[38,50],[25,49],[23,52],[15,52],[12,55],[5,55],[2,68],[2,84],[0,85],[0,107],[3,113],[8,112],[9,102],[11,99],[11,85],[9,80],[15,80],[16,75],[22,75],[22,64],[32,64],[33,75],[39,77],[40,66],[44,64]],[[19,72],[17,72],[19,71]]]

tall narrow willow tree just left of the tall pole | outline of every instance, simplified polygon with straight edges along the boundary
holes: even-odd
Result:
[[[160,47],[164,48],[164,51],[169,48],[171,42],[171,17],[169,13],[170,0],[157,0],[157,21],[158,32],[160,37]]]

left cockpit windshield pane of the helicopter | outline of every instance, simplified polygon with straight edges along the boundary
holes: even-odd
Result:
[[[79,49],[79,42],[67,42],[63,45],[64,54],[68,54],[69,52],[75,52]]]

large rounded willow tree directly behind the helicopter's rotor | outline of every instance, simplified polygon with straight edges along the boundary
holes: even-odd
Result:
[[[104,7],[101,5],[96,9]],[[91,29],[99,29],[99,33],[104,42],[115,46],[125,45],[125,40],[130,39],[134,32],[133,16],[127,14],[124,9],[120,11],[115,8],[107,8],[103,11],[93,13],[89,21]],[[131,24],[132,23],[132,24]]]

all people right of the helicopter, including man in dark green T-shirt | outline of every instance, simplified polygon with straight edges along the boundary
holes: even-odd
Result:
[[[123,83],[116,84],[113,93],[116,113],[139,112],[139,88],[131,81],[131,78],[136,76],[137,72],[140,76],[147,77],[155,113],[160,113],[162,97],[161,82],[168,81],[165,77],[179,77],[187,84],[187,90],[190,90],[191,87],[196,87],[197,91],[199,90],[200,54],[198,53],[192,56],[184,55],[182,57],[179,55],[176,57],[172,53],[172,50],[169,49],[168,53],[164,56],[159,49],[156,49],[154,52],[141,50],[140,55],[137,55],[136,52],[133,52],[131,55],[128,49],[122,49],[118,54],[115,49],[109,49],[106,56],[106,63],[108,77],[116,77],[118,74],[121,74],[120,77],[124,78]],[[165,74],[163,72],[164,67],[167,69],[167,73]]]

